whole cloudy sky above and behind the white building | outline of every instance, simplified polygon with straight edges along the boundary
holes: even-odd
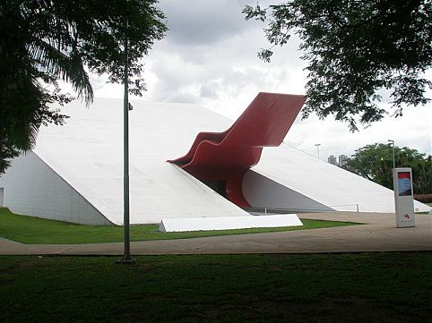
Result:
[[[260,1],[266,3],[272,2]],[[145,57],[148,91],[140,99],[196,104],[235,119],[260,91],[304,94],[306,64],[299,58],[298,38],[276,49],[271,64],[260,61],[257,51],[268,47],[265,25],[245,21],[241,10],[246,4],[256,0],[160,0],[169,31]],[[428,77],[432,79],[431,71]],[[96,97],[122,98],[121,86],[96,77],[91,81]],[[407,107],[396,119],[390,112],[384,121],[355,133],[332,117],[298,117],[285,142],[315,156],[319,143],[325,160],[388,139],[430,154],[431,108]]]

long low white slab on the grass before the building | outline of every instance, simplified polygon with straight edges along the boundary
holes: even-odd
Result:
[[[250,217],[188,217],[162,219],[160,232],[210,231],[303,225],[296,214]]]

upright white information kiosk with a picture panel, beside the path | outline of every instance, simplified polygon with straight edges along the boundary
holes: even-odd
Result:
[[[396,227],[416,226],[411,169],[393,168]]]

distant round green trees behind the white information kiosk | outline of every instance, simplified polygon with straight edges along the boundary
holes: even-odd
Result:
[[[432,192],[431,157],[416,149],[394,147],[396,167],[411,167],[413,190],[416,194]],[[356,150],[347,160],[345,169],[393,189],[393,147],[376,143]]]

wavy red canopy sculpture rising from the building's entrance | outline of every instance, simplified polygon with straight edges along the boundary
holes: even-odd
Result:
[[[243,196],[243,176],[258,163],[263,147],[281,145],[305,100],[304,96],[261,92],[227,131],[198,133],[184,157],[168,161],[217,186],[239,207],[250,207]]]

